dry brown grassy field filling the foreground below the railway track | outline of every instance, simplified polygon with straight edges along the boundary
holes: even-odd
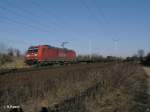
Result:
[[[0,112],[145,112],[148,76],[135,63],[78,64],[0,76]]]

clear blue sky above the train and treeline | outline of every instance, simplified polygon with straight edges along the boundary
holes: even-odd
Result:
[[[22,52],[63,41],[80,54],[149,52],[149,6],[149,0],[0,0],[0,44]]]

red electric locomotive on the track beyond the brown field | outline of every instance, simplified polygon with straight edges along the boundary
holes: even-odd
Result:
[[[75,59],[75,51],[49,45],[31,46],[25,55],[25,62],[29,65],[38,63],[72,63]]]

